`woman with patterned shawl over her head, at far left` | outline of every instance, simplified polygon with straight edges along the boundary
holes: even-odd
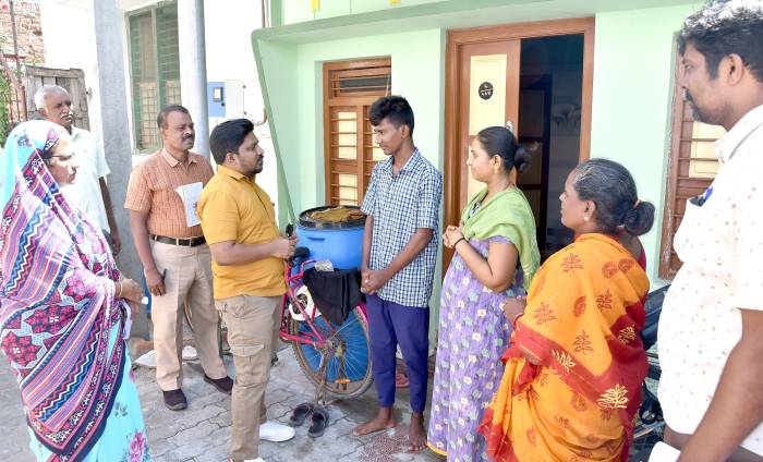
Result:
[[[0,348],[39,461],[149,461],[124,338],[142,297],[100,230],[63,197],[76,157],[44,121],[0,156]]]

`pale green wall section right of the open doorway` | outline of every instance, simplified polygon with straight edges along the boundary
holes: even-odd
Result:
[[[625,165],[657,208],[642,240],[657,277],[675,85],[675,34],[701,3],[596,15],[591,156]],[[678,97],[682,97],[678,95]]]

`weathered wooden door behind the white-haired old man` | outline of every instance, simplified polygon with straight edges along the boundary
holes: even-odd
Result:
[[[90,130],[87,114],[87,87],[85,73],[81,69],[51,69],[26,66],[26,112],[27,119],[38,119],[35,107],[35,93],[43,85],[58,85],[69,92],[74,111],[74,126]]]

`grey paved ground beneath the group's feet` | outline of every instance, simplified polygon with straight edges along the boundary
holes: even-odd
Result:
[[[293,406],[312,401],[313,387],[300,372],[291,348],[279,352],[279,364],[272,369],[266,402],[268,416],[286,422]],[[227,364],[232,372],[230,357]],[[137,368],[135,378],[148,441],[155,461],[219,462],[228,457],[230,437],[230,397],[215,391],[202,379],[201,367],[187,362],[183,373],[189,409],[181,412],[167,410],[154,381],[154,370]],[[353,437],[355,425],[374,415],[376,393],[371,390],[362,398],[329,403],[330,425],[320,438],[310,438],[307,426],[296,429],[291,441],[261,443],[261,455],[268,462],[397,462],[440,460],[422,452],[404,453],[407,427],[399,425],[386,433],[362,438]],[[398,393],[398,417],[408,421],[403,412],[408,392]],[[403,415],[404,414],[404,415]],[[19,389],[4,358],[0,358],[0,461],[33,461],[28,450],[29,436],[24,423]],[[109,462],[109,461],[104,461]]]

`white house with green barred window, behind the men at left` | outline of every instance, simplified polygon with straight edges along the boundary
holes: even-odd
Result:
[[[156,115],[162,106],[181,104],[190,109],[197,131],[194,150],[199,154],[209,155],[211,127],[246,117],[257,124],[257,136],[272,155],[250,41],[251,32],[266,22],[266,2],[45,0],[35,4],[39,4],[45,45],[45,59],[36,64],[84,73],[89,130],[102,139],[111,167],[109,190],[123,235],[119,265],[140,280],[143,271],[126,231],[129,215],[121,205],[132,167],[159,147]],[[276,172],[270,157],[258,179],[274,197]],[[136,318],[133,333],[148,336],[145,317]]]

